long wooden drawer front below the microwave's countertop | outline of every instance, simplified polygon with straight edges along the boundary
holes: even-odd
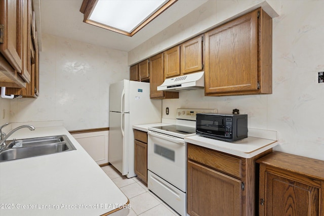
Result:
[[[205,164],[228,175],[241,178],[242,160],[211,149],[188,143],[188,160]]]

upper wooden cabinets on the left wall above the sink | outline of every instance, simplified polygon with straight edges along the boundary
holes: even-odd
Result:
[[[39,63],[32,0],[0,1],[0,85],[6,94],[37,97]]]

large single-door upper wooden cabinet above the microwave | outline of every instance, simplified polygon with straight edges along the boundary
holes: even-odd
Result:
[[[272,93],[272,19],[261,8],[205,33],[205,95]]]

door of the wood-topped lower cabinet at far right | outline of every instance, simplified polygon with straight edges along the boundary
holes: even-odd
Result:
[[[319,188],[266,171],[265,214],[319,215]],[[262,208],[260,208],[262,209]]]

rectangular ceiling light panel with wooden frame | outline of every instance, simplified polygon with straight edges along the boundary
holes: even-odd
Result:
[[[177,0],[84,0],[84,22],[133,36]]]

